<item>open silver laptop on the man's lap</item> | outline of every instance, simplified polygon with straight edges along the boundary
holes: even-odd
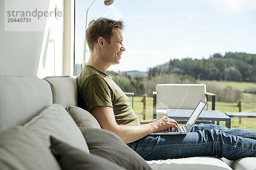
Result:
[[[200,100],[198,105],[195,107],[193,113],[189,117],[188,121],[186,122],[185,126],[179,126],[179,130],[177,131],[175,128],[168,128],[166,130],[163,130],[162,132],[154,132],[154,133],[149,133],[150,135],[177,135],[177,134],[187,134],[189,131],[192,129],[194,126],[196,120],[198,119],[199,115],[203,111],[205,105],[207,102],[204,100]]]

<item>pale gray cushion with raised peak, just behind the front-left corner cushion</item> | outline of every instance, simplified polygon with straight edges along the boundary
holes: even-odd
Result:
[[[58,139],[89,153],[79,127],[59,104],[48,106],[24,127],[37,134],[47,146],[50,146],[49,136],[56,136]]]

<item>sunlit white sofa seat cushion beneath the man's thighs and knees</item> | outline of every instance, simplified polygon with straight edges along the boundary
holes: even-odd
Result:
[[[154,170],[232,170],[216,157],[198,156],[181,159],[146,161]]]

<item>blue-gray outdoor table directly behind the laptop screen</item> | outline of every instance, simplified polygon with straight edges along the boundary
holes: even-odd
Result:
[[[157,117],[168,116],[178,123],[186,123],[191,116],[192,109],[157,109]],[[221,111],[203,110],[196,123],[211,123],[219,125],[219,121],[225,121],[226,127],[230,128],[231,118]]]

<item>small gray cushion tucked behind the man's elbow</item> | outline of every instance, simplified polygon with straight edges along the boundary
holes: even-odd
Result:
[[[93,117],[93,115],[84,109],[76,106],[70,106],[67,107],[66,110],[74,119],[77,126],[101,128],[99,122]]]

